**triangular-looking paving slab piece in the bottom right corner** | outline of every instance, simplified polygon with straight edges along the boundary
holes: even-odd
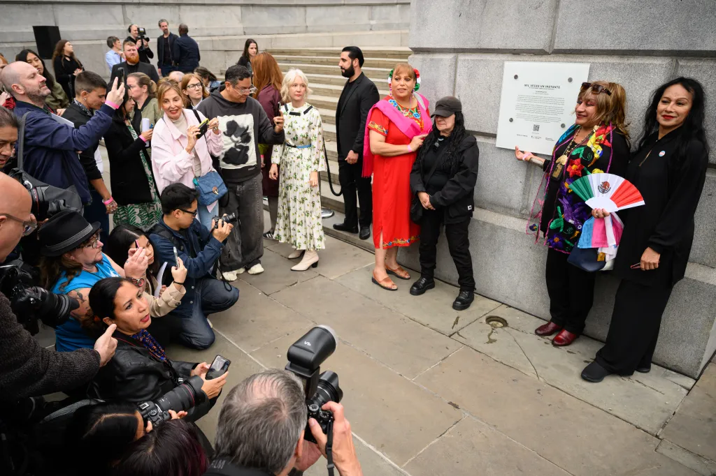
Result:
[[[716,461],[716,364],[710,363],[660,437]]]

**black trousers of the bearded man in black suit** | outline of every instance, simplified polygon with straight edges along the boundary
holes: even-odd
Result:
[[[343,191],[343,204],[346,208],[345,224],[349,227],[369,227],[373,219],[373,192],[370,177],[362,177],[362,159],[349,164],[345,159],[338,161],[338,180]],[[356,192],[358,200],[356,201]],[[357,202],[360,203],[360,218]]]

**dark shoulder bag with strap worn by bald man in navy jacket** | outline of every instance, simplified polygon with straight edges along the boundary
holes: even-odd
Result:
[[[77,193],[77,187],[72,184],[72,178],[67,174],[67,169],[64,168],[64,164],[62,173],[65,179],[67,179],[67,183],[72,184],[67,187],[67,189],[48,185],[30,176],[30,174],[22,169],[24,164],[25,122],[27,114],[29,114],[29,112],[26,112],[24,116],[19,118],[20,128],[16,146],[17,167],[11,169],[8,176],[16,179],[23,187],[28,189],[32,197],[32,213],[35,214],[35,217],[39,221],[47,218],[47,212],[52,214],[52,212],[59,212],[62,209],[72,209],[82,213],[82,199]],[[33,189],[36,191],[32,192]]]

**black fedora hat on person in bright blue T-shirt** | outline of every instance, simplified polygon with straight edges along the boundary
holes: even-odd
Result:
[[[100,222],[89,224],[82,214],[62,210],[40,227],[40,254],[54,257],[72,251],[97,233],[98,229]]]

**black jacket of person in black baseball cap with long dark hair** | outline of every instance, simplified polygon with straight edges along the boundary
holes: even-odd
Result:
[[[463,139],[460,147],[458,147],[458,156],[458,164],[455,166],[455,170],[448,170],[445,166],[445,154],[437,158],[440,162],[435,169],[436,172],[442,171],[451,177],[440,192],[430,195],[430,204],[435,209],[442,208],[445,210],[445,223],[447,224],[460,223],[473,216],[473,210],[475,209],[473,191],[478,180],[478,161],[480,158],[480,149],[478,149],[478,142],[475,136],[468,135]],[[410,172],[410,189],[414,194],[427,192],[425,183],[423,183],[424,174],[427,174],[427,172],[423,172],[422,163],[419,157]]]

